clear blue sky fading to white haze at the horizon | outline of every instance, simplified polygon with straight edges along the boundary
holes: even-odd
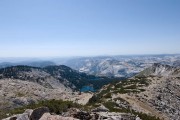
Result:
[[[0,0],[0,57],[180,53],[180,0]]]

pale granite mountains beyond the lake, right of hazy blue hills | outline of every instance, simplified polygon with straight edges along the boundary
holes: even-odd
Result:
[[[64,64],[91,75],[107,77],[132,77],[153,63],[180,66],[180,55],[104,56],[85,57]]]

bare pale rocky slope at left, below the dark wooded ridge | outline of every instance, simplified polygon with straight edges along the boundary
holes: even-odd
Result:
[[[69,99],[72,90],[63,84],[55,87],[44,87],[40,84],[18,79],[0,80],[0,110],[16,108],[39,100]]]

